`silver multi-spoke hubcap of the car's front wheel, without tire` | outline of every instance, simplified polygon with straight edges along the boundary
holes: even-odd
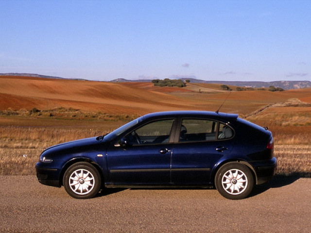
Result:
[[[86,169],[77,169],[69,177],[69,187],[78,195],[89,193],[94,188],[94,185],[94,176]]]

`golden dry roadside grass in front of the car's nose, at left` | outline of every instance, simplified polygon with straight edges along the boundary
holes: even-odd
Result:
[[[55,144],[109,133],[93,128],[0,127],[0,175],[35,175],[41,152]]]

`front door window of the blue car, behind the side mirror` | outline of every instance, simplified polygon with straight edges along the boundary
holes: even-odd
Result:
[[[131,145],[168,143],[173,122],[173,119],[153,121],[127,134],[126,139]]]

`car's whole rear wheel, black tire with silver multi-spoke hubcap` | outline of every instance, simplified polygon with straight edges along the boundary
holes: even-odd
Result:
[[[240,200],[246,198],[254,187],[251,170],[241,163],[228,163],[216,173],[215,186],[225,198]]]

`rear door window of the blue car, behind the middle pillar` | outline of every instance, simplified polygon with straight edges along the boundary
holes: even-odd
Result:
[[[205,119],[183,119],[179,142],[216,140],[217,122]]]

